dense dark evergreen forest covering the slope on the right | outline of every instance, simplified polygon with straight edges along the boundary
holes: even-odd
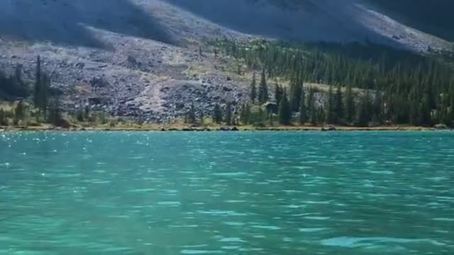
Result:
[[[263,104],[274,94],[281,124],[299,115],[301,124],[453,125],[453,68],[436,57],[372,42],[303,45],[224,38],[214,46],[261,73],[260,84],[253,75],[250,101]],[[270,93],[267,79],[284,79],[289,86],[275,82]],[[320,91],[307,83],[329,86],[324,99],[316,100]]]

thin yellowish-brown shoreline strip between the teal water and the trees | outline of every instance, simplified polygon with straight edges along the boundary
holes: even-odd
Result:
[[[427,128],[417,126],[380,126],[380,127],[349,127],[349,126],[281,126],[257,128],[251,126],[206,126],[189,127],[172,125],[156,125],[143,127],[87,127],[87,128],[56,128],[53,126],[37,127],[0,127],[0,132],[263,132],[263,131],[321,131],[321,132],[350,132],[350,131],[454,131],[450,128]]]

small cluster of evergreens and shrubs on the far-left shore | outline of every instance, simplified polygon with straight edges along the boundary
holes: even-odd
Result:
[[[41,69],[40,57],[36,60],[35,79],[25,81],[21,66],[12,74],[0,72],[0,128],[48,130],[51,128],[108,128],[133,126],[121,118],[106,113],[92,112],[81,105],[72,112],[61,106],[61,92],[53,89],[48,74]]]

